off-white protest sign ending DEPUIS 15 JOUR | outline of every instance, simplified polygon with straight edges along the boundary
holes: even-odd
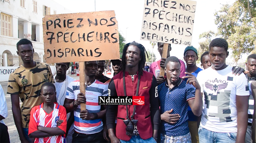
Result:
[[[196,1],[145,0],[140,40],[191,45]]]

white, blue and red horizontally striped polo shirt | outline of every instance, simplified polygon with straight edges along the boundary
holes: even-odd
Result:
[[[80,82],[76,80],[69,83],[66,98],[67,99],[77,99],[77,95],[80,93]],[[101,111],[101,106],[98,105],[98,96],[108,96],[108,86],[97,80],[91,85],[86,87],[86,109],[90,113],[98,113]],[[80,105],[74,110],[74,128],[76,132],[82,134],[95,134],[103,130],[102,119],[95,120],[83,120],[80,118]]]

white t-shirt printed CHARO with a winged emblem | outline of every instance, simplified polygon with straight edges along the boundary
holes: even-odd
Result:
[[[245,75],[232,74],[232,67],[207,68],[197,75],[203,93],[200,126],[213,132],[237,132],[236,95],[249,96]]]

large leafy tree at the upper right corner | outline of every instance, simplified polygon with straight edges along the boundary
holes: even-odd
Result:
[[[255,48],[255,15],[255,0],[237,0],[232,5],[222,5],[221,10],[214,14],[217,35],[227,40],[236,63],[242,53],[248,54]]]

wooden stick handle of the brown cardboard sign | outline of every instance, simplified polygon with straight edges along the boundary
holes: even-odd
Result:
[[[80,92],[85,95],[85,73],[84,73],[84,69],[85,69],[85,62],[84,61],[80,61],[79,62],[79,80],[80,80]],[[85,103],[81,103],[81,111],[82,110],[86,110],[86,104]]]

